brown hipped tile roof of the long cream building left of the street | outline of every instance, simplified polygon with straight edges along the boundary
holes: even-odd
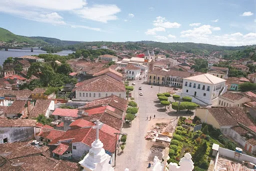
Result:
[[[73,91],[126,91],[124,84],[106,74],[78,82]]]

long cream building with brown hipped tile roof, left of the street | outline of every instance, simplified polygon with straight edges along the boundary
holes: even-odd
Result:
[[[124,84],[106,74],[78,82],[72,90],[72,100],[91,101],[109,95],[125,98]]]

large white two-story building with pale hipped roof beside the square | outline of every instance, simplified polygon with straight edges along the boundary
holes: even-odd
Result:
[[[192,102],[211,105],[218,102],[218,96],[226,92],[225,79],[204,73],[183,78],[182,91],[177,91],[180,96],[192,97]]]

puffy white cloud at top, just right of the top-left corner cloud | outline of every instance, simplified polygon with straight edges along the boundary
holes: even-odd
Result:
[[[75,10],[74,12],[82,18],[100,22],[107,22],[108,20],[116,20],[117,16],[115,14],[120,11],[121,9],[116,5],[96,4],[92,7],[83,7],[82,9]]]

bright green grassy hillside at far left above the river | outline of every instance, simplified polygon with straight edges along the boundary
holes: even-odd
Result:
[[[27,42],[30,44],[48,44],[47,42],[37,39],[37,38],[30,38],[26,36],[16,35],[12,32],[8,31],[7,29],[0,28],[0,41],[5,42]]]

